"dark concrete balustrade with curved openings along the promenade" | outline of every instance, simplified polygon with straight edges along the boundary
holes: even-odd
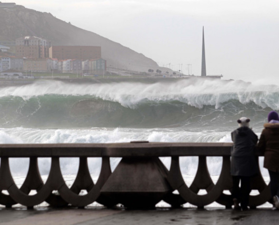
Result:
[[[191,203],[199,208],[212,202],[226,208],[232,206],[231,195],[224,190],[232,188],[230,175],[231,143],[148,143],[119,144],[2,144],[0,145],[0,204],[11,207],[20,203],[33,207],[44,201],[53,207],[84,207],[97,201],[111,207],[121,203],[128,208],[152,208],[161,200],[173,207]],[[256,153],[256,157],[260,156]],[[179,156],[198,156],[199,164],[190,187],[183,180]],[[216,184],[208,172],[206,156],[221,156],[222,169]],[[29,157],[26,179],[18,188],[9,167],[9,158]],[[51,169],[43,183],[38,169],[38,157],[51,157]],[[62,176],[59,157],[79,157],[79,169],[69,188]],[[102,167],[96,184],[92,181],[87,157],[102,157]],[[122,157],[111,172],[109,157]],[[168,170],[158,157],[171,157]],[[198,195],[200,189],[207,194]],[[250,196],[249,205],[255,208],[270,199],[270,191],[261,174],[251,179],[251,189],[259,195]],[[1,193],[7,190],[9,195]],[[35,195],[29,195],[36,190]],[[86,190],[86,195],[79,195]],[[177,190],[179,194],[173,194]],[[59,195],[53,194],[58,191]]]

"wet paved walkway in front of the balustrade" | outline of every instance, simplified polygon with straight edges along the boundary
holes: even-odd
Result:
[[[278,224],[279,211],[271,209],[256,209],[249,211],[234,211],[225,209],[196,208],[157,209],[157,210],[121,210],[106,208],[86,209],[51,209],[35,208],[0,208],[0,224],[83,224],[83,225],[231,225],[231,224]]]

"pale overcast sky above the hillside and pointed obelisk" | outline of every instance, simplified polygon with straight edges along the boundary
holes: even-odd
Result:
[[[11,2],[4,1],[2,2]],[[279,84],[278,0],[16,0],[95,32],[160,66]],[[180,65],[179,65],[180,64]]]

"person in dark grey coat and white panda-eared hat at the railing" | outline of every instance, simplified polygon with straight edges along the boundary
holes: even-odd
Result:
[[[258,142],[258,136],[249,128],[249,118],[241,117],[237,122],[239,128],[232,132],[232,197],[235,209],[242,208],[242,210],[247,210],[249,193],[251,191],[250,177],[258,173],[258,166],[254,153],[255,146]],[[240,188],[239,181],[241,181]]]

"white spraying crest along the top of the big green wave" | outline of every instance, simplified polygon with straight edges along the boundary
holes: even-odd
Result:
[[[253,101],[265,108],[279,110],[279,86],[259,85],[244,81],[208,79],[179,79],[153,84],[137,82],[72,84],[61,81],[36,82],[21,87],[3,87],[0,97],[19,96],[29,99],[34,96],[91,95],[135,108],[145,101],[181,101],[202,108],[213,105],[217,108],[224,102],[235,99],[242,104]]]

